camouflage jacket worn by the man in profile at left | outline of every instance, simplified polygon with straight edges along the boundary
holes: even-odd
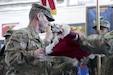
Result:
[[[47,75],[46,62],[39,62],[31,51],[44,48],[45,43],[31,27],[17,30],[5,48],[6,75]]]

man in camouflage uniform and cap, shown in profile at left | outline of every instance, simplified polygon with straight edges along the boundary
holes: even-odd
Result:
[[[16,30],[10,37],[5,48],[5,62],[8,66],[6,75],[49,75],[48,62],[39,62],[44,56],[44,48],[50,38],[45,41],[39,37],[49,27],[50,21],[54,21],[50,10],[39,5],[32,4],[29,13],[28,27]]]

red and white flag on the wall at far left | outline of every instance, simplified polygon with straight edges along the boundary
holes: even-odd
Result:
[[[7,30],[12,30],[19,23],[6,23],[2,24],[2,36],[6,33]]]

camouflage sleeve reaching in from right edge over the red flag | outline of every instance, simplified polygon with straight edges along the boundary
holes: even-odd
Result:
[[[93,54],[113,54],[113,31],[101,35],[90,35],[88,37],[81,37],[79,43],[84,51]]]

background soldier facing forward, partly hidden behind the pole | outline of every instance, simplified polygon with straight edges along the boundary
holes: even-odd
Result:
[[[94,22],[93,29],[94,29],[94,34],[99,34],[97,31],[96,22]],[[110,23],[107,20],[103,19],[102,17],[100,18],[100,31],[101,31],[101,34],[99,34],[99,35],[102,35],[102,36],[104,36],[106,33],[108,33],[110,31]],[[102,61],[102,71],[103,72],[102,73],[105,73],[104,72],[104,69],[106,69],[105,64],[107,64],[105,62],[105,60],[107,59],[107,57],[102,57],[102,58],[103,58],[103,61]],[[97,57],[95,57],[94,59],[90,59],[88,61],[88,67],[89,67],[91,75],[96,75],[96,72],[97,72],[97,63],[96,62],[97,62]]]

